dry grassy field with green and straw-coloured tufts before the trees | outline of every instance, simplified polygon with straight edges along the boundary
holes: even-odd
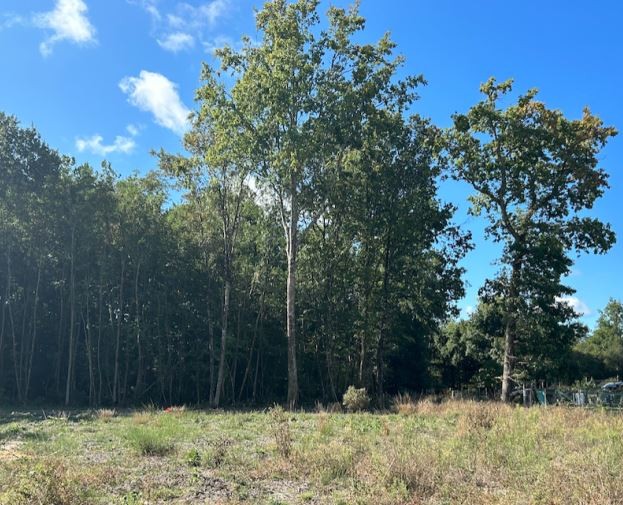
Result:
[[[0,413],[0,503],[620,504],[623,417],[403,402],[395,413]]]

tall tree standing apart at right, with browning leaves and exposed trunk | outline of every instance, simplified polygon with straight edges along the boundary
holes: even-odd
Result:
[[[518,356],[523,315],[564,323],[573,319],[561,297],[572,260],[568,253],[604,253],[615,241],[607,224],[585,215],[608,187],[597,155],[616,134],[588,109],[579,120],[548,109],[530,90],[507,108],[499,101],[512,81],[490,79],[481,86],[483,101],[454,116],[448,150],[453,175],[476,190],[473,214],[484,213],[487,233],[503,244],[500,275],[483,289],[504,303],[502,400],[509,399]]]

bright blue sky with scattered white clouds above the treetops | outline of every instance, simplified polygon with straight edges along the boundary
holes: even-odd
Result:
[[[338,0],[337,5],[348,2]],[[120,173],[155,167],[150,150],[180,149],[202,61],[212,49],[256,37],[248,0],[2,0],[0,110],[35,125],[78,162],[108,159]],[[326,8],[328,3],[323,6]],[[617,0],[362,0],[364,37],[389,31],[422,73],[415,111],[440,126],[479,99],[489,76],[515,79],[516,91],[540,89],[548,106],[580,117],[589,106],[623,129],[623,4]],[[583,255],[569,284],[573,303],[593,325],[609,297],[623,299],[623,135],[603,150],[611,189],[593,213],[620,237],[604,256]],[[441,197],[459,206],[457,222],[474,233],[464,261],[464,313],[491,276],[499,249],[466,214],[468,188],[444,183]]]

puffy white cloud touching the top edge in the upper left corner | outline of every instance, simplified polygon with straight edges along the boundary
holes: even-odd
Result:
[[[41,54],[50,55],[54,44],[62,40],[76,44],[94,43],[95,28],[86,16],[87,10],[83,0],[56,0],[53,10],[35,14],[35,26],[53,32],[39,45]]]

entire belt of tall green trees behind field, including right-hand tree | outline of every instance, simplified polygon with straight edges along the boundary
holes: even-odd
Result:
[[[256,22],[203,65],[156,172],[76,165],[0,113],[3,401],[294,407],[356,385],[382,407],[623,372],[621,303],[589,334],[564,302],[576,253],[615,241],[587,212],[613,128],[491,79],[441,129],[356,9],[274,0]],[[464,320],[473,244],[439,197],[450,178],[502,245]]]

